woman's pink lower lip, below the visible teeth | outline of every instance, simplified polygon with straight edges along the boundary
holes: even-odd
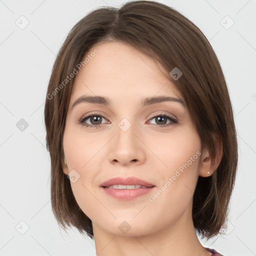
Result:
[[[106,194],[120,200],[131,200],[136,198],[139,195],[149,193],[152,191],[154,186],[151,187],[140,187],[140,188],[133,188],[133,189],[118,189],[118,188],[108,188],[108,187],[102,187]]]

